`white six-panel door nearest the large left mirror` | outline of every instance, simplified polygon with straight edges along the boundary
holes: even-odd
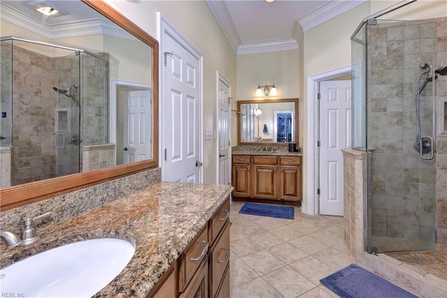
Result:
[[[200,181],[199,61],[165,34],[164,181]]]

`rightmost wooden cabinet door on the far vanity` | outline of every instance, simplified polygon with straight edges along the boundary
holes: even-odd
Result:
[[[301,167],[279,167],[281,200],[301,200]]]

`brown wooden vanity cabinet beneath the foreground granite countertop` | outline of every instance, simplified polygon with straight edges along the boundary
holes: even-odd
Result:
[[[230,198],[227,198],[147,297],[228,298],[229,218]]]

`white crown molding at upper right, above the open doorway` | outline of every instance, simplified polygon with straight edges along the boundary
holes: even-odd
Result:
[[[349,0],[349,1],[329,1],[307,13],[304,17],[300,17],[297,21],[301,24],[302,30],[312,29],[337,15],[346,13],[347,11],[365,3],[367,0]]]

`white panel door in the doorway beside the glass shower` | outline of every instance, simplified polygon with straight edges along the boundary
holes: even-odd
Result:
[[[351,81],[320,84],[320,214],[343,215],[343,148],[351,147]]]

